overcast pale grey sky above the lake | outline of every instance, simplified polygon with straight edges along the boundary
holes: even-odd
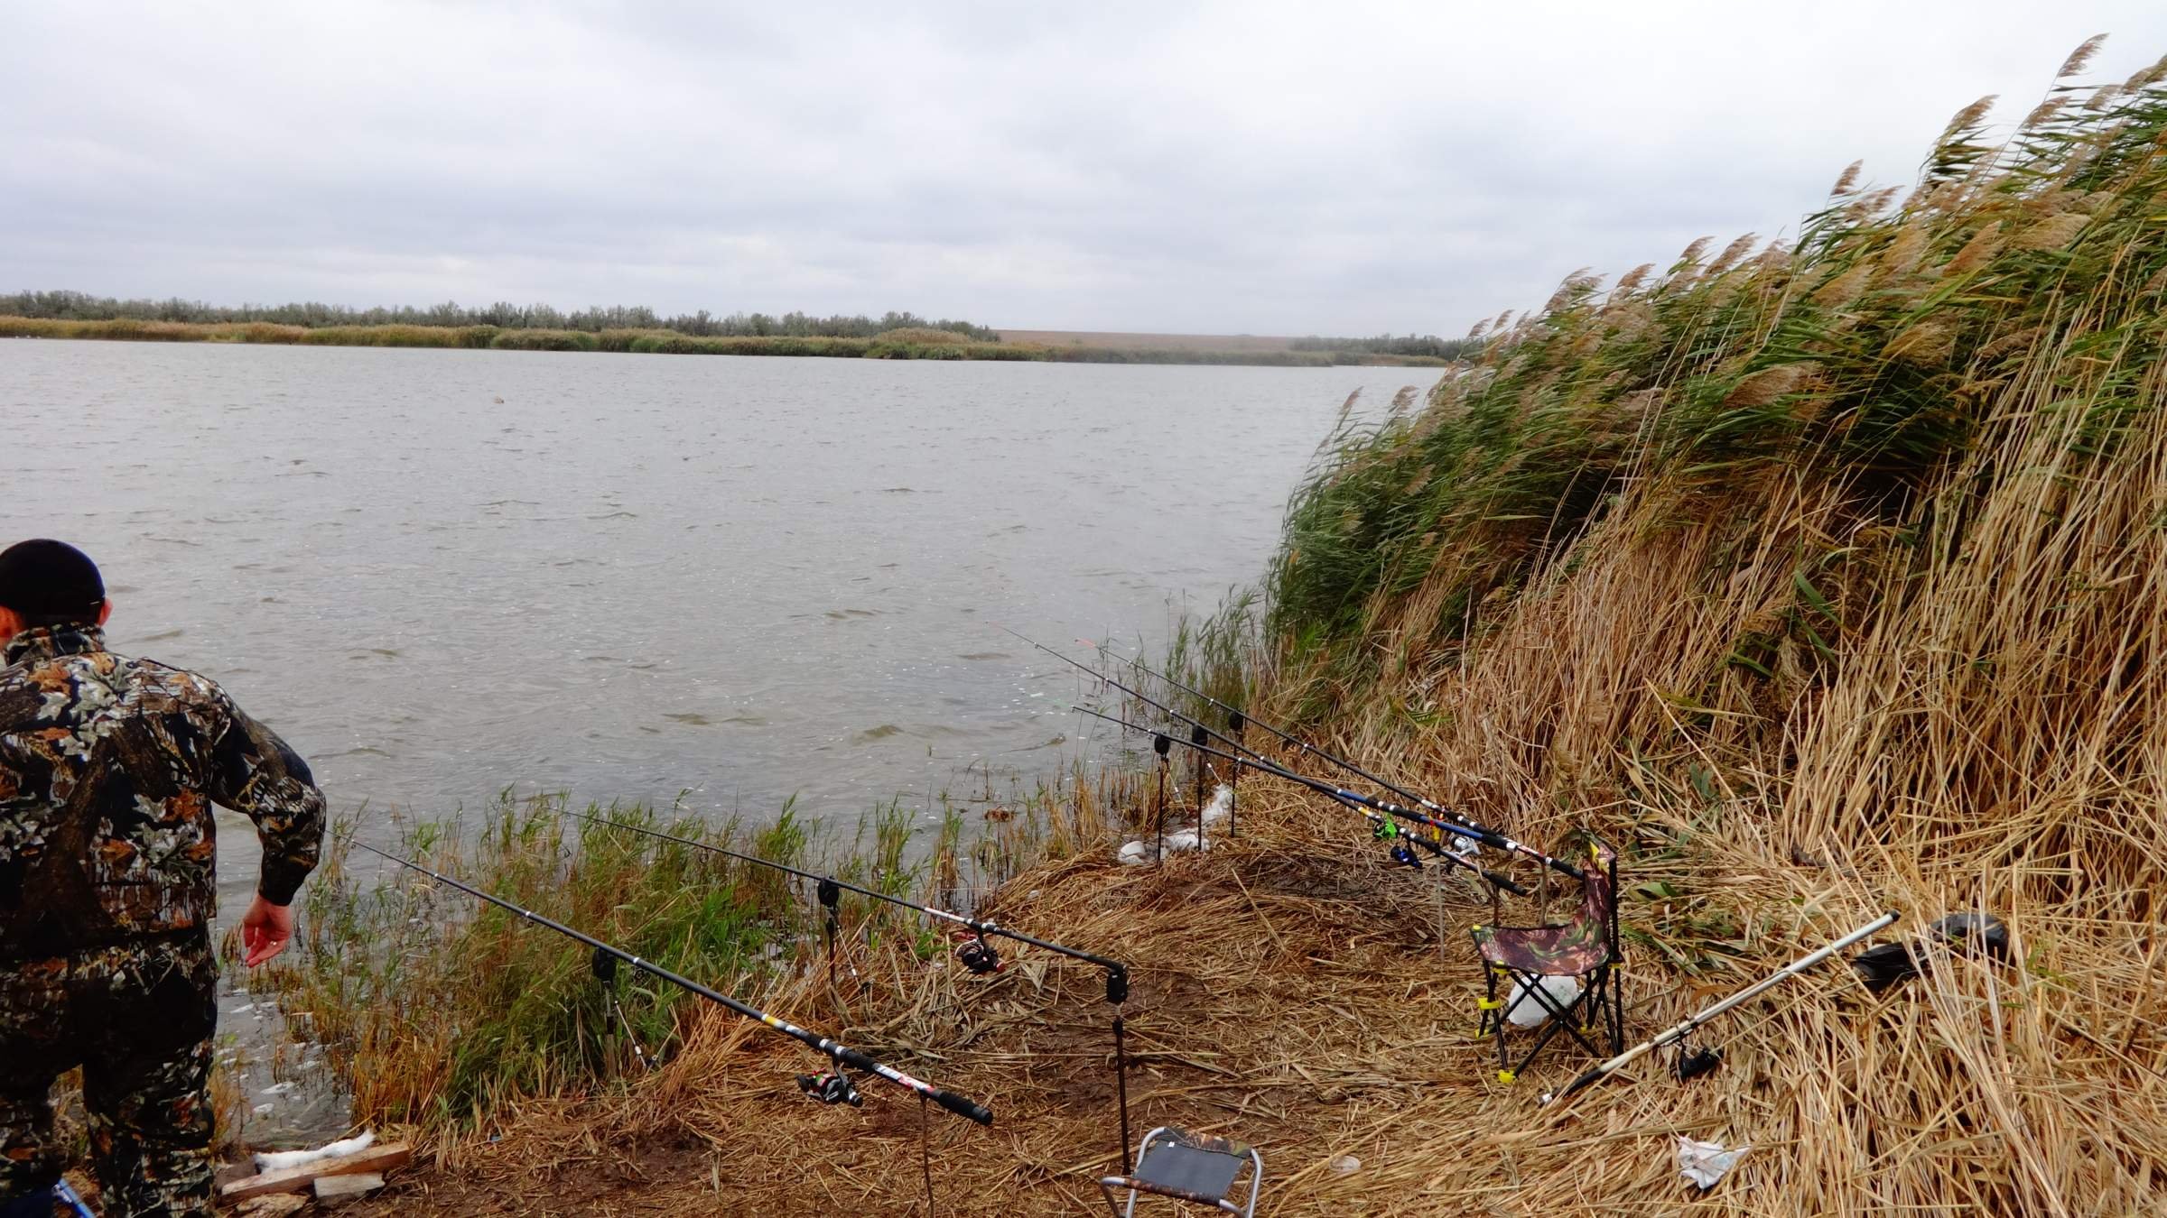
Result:
[[[1461,334],[2167,4],[0,4],[0,290]]]

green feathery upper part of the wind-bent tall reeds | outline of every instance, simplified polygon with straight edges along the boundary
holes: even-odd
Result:
[[[1341,431],[1298,494],[1272,631],[1354,665],[1387,624],[1452,646],[1651,496],[1697,520],[1781,477],[1838,488],[1851,527],[1946,520],[2007,470],[1950,475],[2039,410],[2076,414],[2072,459],[2113,457],[2156,414],[2163,130],[2152,72],[2056,91],[2007,141],[1965,108],[1913,189],[1846,173],[1794,249],[1701,241],[1478,325],[1480,362]],[[1803,579],[1835,550],[1801,555]],[[1415,589],[1426,622],[1404,616]]]

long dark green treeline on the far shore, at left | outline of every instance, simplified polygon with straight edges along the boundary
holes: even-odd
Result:
[[[334,325],[433,325],[446,329],[488,325],[494,329],[570,329],[600,334],[605,329],[674,329],[696,338],[873,338],[888,329],[947,329],[977,342],[999,342],[999,334],[969,321],[927,321],[914,312],[884,316],[813,316],[787,312],[732,312],[713,316],[706,310],[663,316],[646,306],[583,308],[563,312],[553,306],[492,303],[466,308],[453,301],[429,308],[347,308],[319,301],[282,306],[212,306],[180,297],[124,301],[89,293],[15,293],[0,295],[0,314],[37,321],[180,321],[193,325],[234,325],[262,321],[327,329]]]

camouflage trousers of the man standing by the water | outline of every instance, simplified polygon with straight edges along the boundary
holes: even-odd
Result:
[[[0,1205],[65,1170],[52,1084],[82,1066],[100,1211],[210,1218],[217,980],[206,932],[0,960]]]

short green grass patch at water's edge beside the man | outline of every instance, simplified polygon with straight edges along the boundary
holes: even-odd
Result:
[[[648,808],[589,811],[663,824]],[[704,834],[696,821],[674,828]],[[787,834],[752,845],[778,843]],[[566,817],[561,798],[505,800],[479,832],[407,824],[392,850],[722,988],[756,988],[793,928],[789,895],[765,878]],[[358,860],[375,856],[342,843],[329,852],[306,895],[295,962],[269,984],[329,1049],[360,1116],[470,1120],[633,1064],[576,943],[405,869],[371,867],[379,878],[362,882]],[[618,993],[635,1038],[648,1049],[674,1042],[676,993],[631,969]]]

